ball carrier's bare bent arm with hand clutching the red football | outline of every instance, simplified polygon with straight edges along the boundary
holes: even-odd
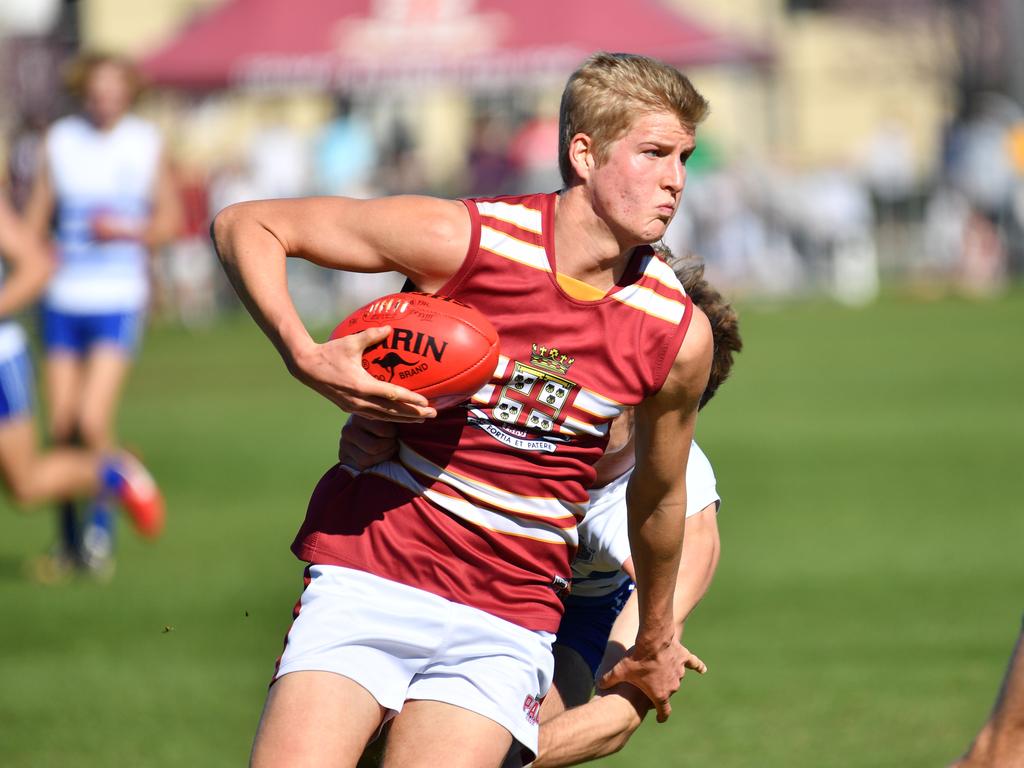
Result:
[[[470,231],[458,202],[308,198],[230,206],[217,215],[213,239],[232,286],[296,378],[349,413],[417,421],[435,415],[426,398],[379,382],[361,367],[362,350],[387,338],[390,328],[317,344],[288,294],[285,261],[293,256],[354,272],[395,270],[435,291],[462,265]]]

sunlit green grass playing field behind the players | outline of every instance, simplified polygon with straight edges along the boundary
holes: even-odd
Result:
[[[941,766],[1024,611],[1024,292],[746,307],[698,428],[724,497],[687,629],[711,667],[606,766]],[[169,502],[113,584],[23,577],[48,515],[4,503],[0,765],[245,763],[342,416],[239,318],[154,329],[121,431]]]

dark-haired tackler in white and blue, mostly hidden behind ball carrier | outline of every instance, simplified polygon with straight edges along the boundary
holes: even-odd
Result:
[[[742,348],[736,313],[703,280],[699,262],[670,258],[670,263],[712,325],[715,355],[702,409],[728,377],[733,353]],[[629,424],[613,425],[609,450],[597,465],[597,487],[591,489],[591,506],[580,526],[581,557],[573,568],[572,592],[554,646],[554,684],[541,710],[536,768],[577,765],[610,755],[626,744],[650,708],[636,688],[601,676],[632,646],[638,628],[626,531],[633,446],[631,439],[616,438],[616,427],[632,432]],[[710,462],[692,443],[686,471],[686,535],[674,598],[680,632],[718,565],[721,500],[716,484]],[[697,672],[707,669],[692,654],[687,667]],[[591,697],[595,676],[599,695]],[[508,768],[519,764],[518,756],[509,756]]]

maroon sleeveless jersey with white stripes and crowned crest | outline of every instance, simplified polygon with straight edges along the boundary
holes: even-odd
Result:
[[[608,426],[660,388],[692,305],[646,247],[604,298],[566,294],[555,274],[555,202],[466,201],[470,248],[437,293],[498,330],[490,382],[463,407],[401,425],[395,461],[331,469],[293,545],[298,557],[558,629]]]

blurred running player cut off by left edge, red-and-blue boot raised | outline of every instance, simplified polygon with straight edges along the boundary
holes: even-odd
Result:
[[[163,500],[148,472],[126,454],[80,449],[39,452],[33,419],[34,382],[25,331],[7,319],[39,297],[52,261],[43,244],[0,197],[0,474],[18,505],[73,497],[118,499],[143,536],[157,536],[164,521]],[[40,571],[50,581],[56,573]]]

